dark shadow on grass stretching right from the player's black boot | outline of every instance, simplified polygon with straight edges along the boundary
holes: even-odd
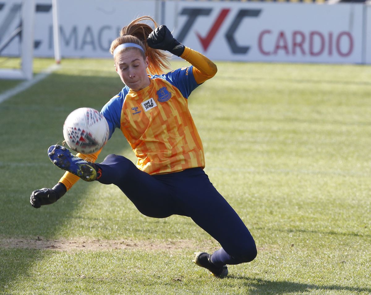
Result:
[[[236,276],[229,275],[231,279],[241,279],[245,280],[243,283],[246,287],[255,288],[257,294],[287,294],[288,292],[310,292],[310,291],[349,291],[352,294],[359,292],[371,293],[371,288],[357,288],[357,287],[347,287],[339,285],[314,285],[305,283],[295,283],[295,282],[275,282],[271,280],[263,279],[252,279],[248,276]]]

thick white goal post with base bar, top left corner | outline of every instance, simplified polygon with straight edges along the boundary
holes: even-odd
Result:
[[[33,76],[35,0],[22,1],[21,68],[0,69],[0,79],[30,80]],[[27,28],[25,30],[24,28]]]

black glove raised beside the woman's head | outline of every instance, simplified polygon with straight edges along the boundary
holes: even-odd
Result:
[[[169,29],[161,25],[150,33],[147,44],[154,49],[170,51],[172,54],[181,56],[184,52],[184,45],[171,35]]]

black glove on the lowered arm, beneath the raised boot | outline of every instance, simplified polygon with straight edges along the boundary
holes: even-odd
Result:
[[[63,183],[58,182],[52,189],[46,187],[34,190],[30,197],[30,203],[34,208],[40,208],[42,205],[55,203],[66,193],[67,189]]]

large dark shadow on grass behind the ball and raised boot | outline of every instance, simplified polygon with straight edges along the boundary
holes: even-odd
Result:
[[[64,171],[50,163],[46,151],[63,140],[67,115],[82,106],[100,110],[122,87],[116,76],[54,73],[0,104],[0,126],[7,126],[0,129],[0,238],[53,239],[79,212],[87,183],[77,183],[57,203],[40,209],[32,208],[30,194],[35,189],[52,187],[63,175]],[[125,138],[114,135],[98,161],[125,147],[129,148]],[[27,276],[29,267],[52,255],[42,250],[20,255],[24,252],[0,248],[0,290],[16,285],[17,278]]]

